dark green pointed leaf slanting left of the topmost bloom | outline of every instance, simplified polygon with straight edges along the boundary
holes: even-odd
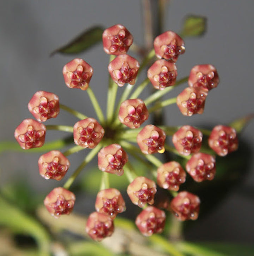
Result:
[[[84,33],[73,39],[67,45],[53,51],[50,56],[53,56],[55,53],[73,54],[83,52],[96,43],[102,42],[103,31],[104,29],[102,27],[92,27],[84,31]]]

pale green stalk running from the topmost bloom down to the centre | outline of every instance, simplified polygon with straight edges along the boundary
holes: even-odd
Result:
[[[115,58],[114,55],[110,55],[109,62]],[[117,94],[118,85],[112,80],[109,75],[109,86],[108,86],[108,99],[107,99],[107,120],[109,123],[112,122],[114,116],[114,106]]]

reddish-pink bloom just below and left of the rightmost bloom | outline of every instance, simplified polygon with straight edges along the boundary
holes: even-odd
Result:
[[[215,158],[205,153],[196,153],[187,162],[186,171],[196,182],[212,180],[216,173]]]

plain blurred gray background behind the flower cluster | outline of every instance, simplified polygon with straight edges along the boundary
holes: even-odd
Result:
[[[182,116],[176,106],[168,107],[166,114],[169,125],[215,125],[254,112],[253,11],[254,1],[249,0],[171,1],[166,10],[164,31],[180,31],[182,18],[186,14],[199,14],[208,20],[204,37],[185,40],[186,53],[177,62],[179,77],[188,75],[196,64],[211,63],[218,70],[220,84],[209,93],[203,115],[188,118]],[[62,103],[95,117],[86,93],[70,90],[64,85],[62,66],[74,57],[89,62],[95,70],[90,84],[101,105],[106,106],[104,96],[108,81],[108,55],[102,46],[75,56],[57,54],[50,58],[49,54],[95,24],[105,27],[123,24],[133,34],[134,41],[142,44],[141,12],[141,1],[138,0],[0,1],[0,140],[14,141],[14,129],[23,119],[32,118],[27,103],[38,90],[54,92]],[[172,95],[177,95],[177,92]],[[71,125],[76,121],[62,111],[56,120],[50,120],[47,124]],[[252,146],[253,130],[254,122],[242,134]],[[47,139],[63,135],[50,131]],[[1,184],[11,182],[13,177],[20,175],[34,189],[45,194],[58,186],[56,181],[45,181],[39,176],[39,156],[10,152],[2,154]],[[82,157],[82,153],[70,157],[73,170]],[[249,176],[242,186],[253,188],[253,165],[252,160]],[[197,222],[191,232],[189,237],[193,239],[252,242],[253,198],[241,196],[238,190],[233,191],[208,218]]]

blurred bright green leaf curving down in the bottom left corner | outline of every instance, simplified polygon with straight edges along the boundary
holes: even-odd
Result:
[[[50,238],[46,229],[32,216],[9,203],[0,195],[0,225],[4,225],[21,234],[29,234],[35,238],[40,255],[49,255]]]

